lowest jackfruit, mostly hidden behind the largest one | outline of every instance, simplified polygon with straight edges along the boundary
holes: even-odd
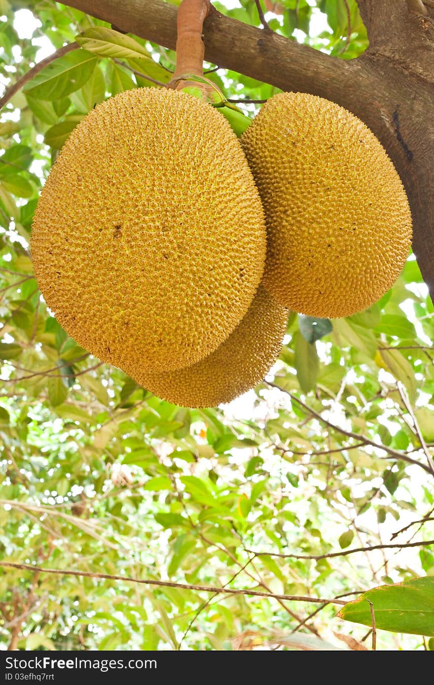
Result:
[[[288,310],[261,285],[243,320],[210,356],[187,369],[133,378],[184,407],[217,407],[254,388],[278,359]]]

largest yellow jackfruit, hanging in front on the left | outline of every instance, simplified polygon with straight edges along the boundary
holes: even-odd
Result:
[[[32,229],[38,285],[59,323],[134,375],[193,364],[247,312],[265,263],[261,200],[215,108],[137,88],[65,143]]]

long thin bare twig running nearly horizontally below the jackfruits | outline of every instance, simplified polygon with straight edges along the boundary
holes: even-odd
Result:
[[[327,602],[330,604],[345,605],[346,601],[341,599],[323,599],[322,597],[299,597],[298,595],[274,595],[274,593],[262,593],[260,590],[235,590],[232,588],[217,588],[207,585],[187,585],[185,583],[173,583],[165,580],[141,580],[130,578],[124,575],[108,575],[108,573],[90,573],[88,571],[72,571],[63,569],[43,569],[40,566],[29,566],[29,564],[12,564],[11,562],[1,561],[0,566],[10,569],[21,569],[22,571],[32,571],[32,573],[55,573],[56,575],[77,575],[86,578],[99,578],[101,580],[120,580],[121,582],[138,583],[141,585],[156,585],[163,588],[178,588],[180,590],[197,590],[197,592],[215,593],[216,595],[248,595],[249,597],[268,597],[269,599],[287,599],[288,601],[306,601],[311,603]]]

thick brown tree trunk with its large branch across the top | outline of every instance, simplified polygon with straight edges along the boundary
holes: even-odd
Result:
[[[114,28],[176,47],[176,7],[162,0],[64,0]],[[434,299],[434,8],[431,0],[358,0],[370,39],[338,60],[213,10],[205,59],[272,84],[335,101],[383,143],[409,196],[413,251]]]

